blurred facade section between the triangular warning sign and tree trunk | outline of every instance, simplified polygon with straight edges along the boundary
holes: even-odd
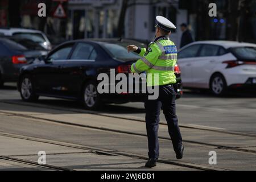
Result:
[[[68,39],[117,37],[122,0],[69,0]]]

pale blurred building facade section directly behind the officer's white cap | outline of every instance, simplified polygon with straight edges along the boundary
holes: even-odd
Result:
[[[187,23],[187,10],[179,9],[177,0],[129,0],[125,19],[125,37],[152,40],[155,36],[155,16],[162,15],[171,20],[177,29],[172,31],[171,40],[180,45],[181,23]]]

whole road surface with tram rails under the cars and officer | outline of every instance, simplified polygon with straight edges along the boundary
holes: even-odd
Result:
[[[160,125],[163,163],[155,169],[255,170],[255,101],[256,94],[217,98],[209,93],[185,92],[184,97],[177,100],[184,159],[175,160],[167,127]],[[25,103],[10,84],[0,89],[0,155],[36,162],[36,151],[46,150],[47,161],[53,166],[80,170],[144,170],[146,160],[141,156],[147,157],[147,138],[143,118],[142,103],[107,105],[93,113],[77,102],[55,98],[40,97],[36,103]],[[163,114],[161,123],[165,123]],[[32,138],[25,140],[24,136]],[[38,139],[50,142],[46,144]],[[56,141],[68,144],[61,143],[60,147]],[[73,144],[82,147],[74,148]],[[95,148],[92,152],[88,146],[111,154],[98,156]],[[208,152],[212,150],[217,152],[217,165],[208,163]],[[0,156],[0,169],[35,169],[29,163],[26,165],[6,162]]]

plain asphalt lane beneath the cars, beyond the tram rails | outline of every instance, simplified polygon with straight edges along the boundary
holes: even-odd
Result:
[[[19,93],[14,84],[0,90],[0,100],[19,101]],[[39,103],[65,108],[83,109],[74,101],[40,97]],[[187,90],[184,96],[177,100],[177,116],[179,123],[188,126],[199,126],[209,129],[221,129],[256,133],[256,91],[255,94],[232,94],[229,97],[218,98],[210,93],[192,92]],[[144,120],[144,104],[130,102],[121,105],[108,105],[100,113],[133,117]],[[160,115],[161,122],[165,123],[164,114]]]

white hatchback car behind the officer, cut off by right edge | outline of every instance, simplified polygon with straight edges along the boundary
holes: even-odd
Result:
[[[180,49],[177,63],[184,88],[210,89],[221,96],[229,88],[255,86],[256,44],[199,41]]]

